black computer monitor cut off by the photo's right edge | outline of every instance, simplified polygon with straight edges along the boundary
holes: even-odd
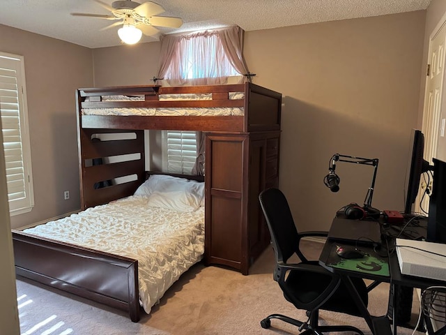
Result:
[[[433,158],[426,240],[446,244],[446,163],[436,158]]]

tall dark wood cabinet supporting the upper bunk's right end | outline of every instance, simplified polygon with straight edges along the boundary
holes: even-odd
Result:
[[[248,274],[270,244],[259,194],[279,181],[280,131],[206,134],[205,261]]]

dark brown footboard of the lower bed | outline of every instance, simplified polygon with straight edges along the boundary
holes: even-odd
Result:
[[[13,230],[17,276],[128,311],[139,321],[138,261]]]

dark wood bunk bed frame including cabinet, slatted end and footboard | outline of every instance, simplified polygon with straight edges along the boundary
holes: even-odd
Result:
[[[229,92],[242,91],[243,100]],[[160,94],[211,93],[210,101],[159,101]],[[104,95],[144,95],[145,101],[101,101]],[[89,101],[85,101],[89,97]],[[244,107],[244,116],[82,115],[89,107]],[[259,208],[263,188],[277,186],[282,95],[245,83],[201,87],[105,87],[77,90],[81,209],[132,195],[146,179],[144,130],[190,130],[206,134],[206,265],[248,274],[270,243]],[[132,140],[93,141],[93,134],[134,133]],[[95,158],[139,154],[136,161],[90,165]],[[105,188],[95,183],[136,174],[137,180]],[[128,311],[138,322],[137,260],[13,230],[18,276]]]

